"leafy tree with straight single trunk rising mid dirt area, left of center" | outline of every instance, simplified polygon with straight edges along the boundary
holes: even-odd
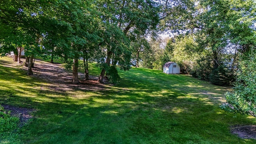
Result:
[[[90,0],[52,1],[48,7],[43,17],[44,54],[64,57],[67,68],[73,69],[72,82],[79,83],[78,59],[88,56],[92,44],[98,41],[94,4]]]

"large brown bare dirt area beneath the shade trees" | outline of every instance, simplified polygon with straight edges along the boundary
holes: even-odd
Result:
[[[84,80],[84,74],[78,73],[80,84],[72,84],[72,72],[65,70],[62,64],[51,64],[41,60],[35,60],[34,68],[32,68],[34,77],[47,80],[52,84],[48,88],[58,91],[72,91],[72,90],[106,90],[108,81],[103,80],[104,84],[97,82],[98,77],[89,76],[89,80]]]

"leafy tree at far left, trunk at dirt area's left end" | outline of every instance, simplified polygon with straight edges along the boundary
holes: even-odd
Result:
[[[18,54],[16,48],[19,50],[23,47],[28,60],[28,75],[32,75],[33,58],[34,55],[40,54],[41,48],[42,7],[47,3],[22,0],[2,2],[0,3],[0,25],[4,31],[1,30],[0,39],[4,44],[3,48],[9,51],[14,46],[15,49],[12,50]]]

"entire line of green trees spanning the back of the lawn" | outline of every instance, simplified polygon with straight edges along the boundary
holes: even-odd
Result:
[[[32,0],[0,3],[2,55],[25,49],[28,75],[34,56],[63,57],[78,83],[78,59],[97,61],[118,81],[116,66],[162,69],[175,61],[182,72],[213,84],[236,79],[238,62],[256,45],[254,0]],[[174,37],[163,42],[157,34]]]

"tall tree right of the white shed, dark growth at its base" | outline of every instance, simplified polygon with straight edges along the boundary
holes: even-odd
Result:
[[[254,0],[167,0],[160,26],[176,34],[194,34],[197,50],[204,55],[193,75],[227,84],[234,77],[237,57],[255,43],[255,7]]]

